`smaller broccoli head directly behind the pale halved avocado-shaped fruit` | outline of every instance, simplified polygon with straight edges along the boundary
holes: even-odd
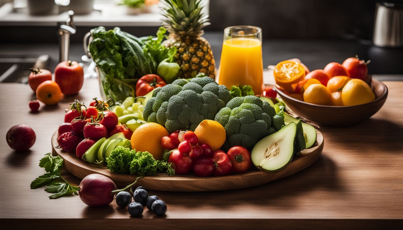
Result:
[[[250,149],[284,126],[284,116],[256,96],[234,97],[216,114],[215,120],[225,128],[225,150],[235,145]]]

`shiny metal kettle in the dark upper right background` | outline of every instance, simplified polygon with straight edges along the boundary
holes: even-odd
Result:
[[[373,43],[379,47],[403,47],[403,4],[376,4]]]

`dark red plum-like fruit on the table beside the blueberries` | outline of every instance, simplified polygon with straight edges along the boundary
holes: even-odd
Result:
[[[78,193],[81,201],[91,207],[99,207],[110,204],[113,201],[116,190],[115,183],[101,174],[89,174],[81,180]]]

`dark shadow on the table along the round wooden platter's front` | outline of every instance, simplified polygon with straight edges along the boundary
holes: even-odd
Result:
[[[183,204],[197,208],[210,205],[214,209],[229,209],[232,206],[242,208],[243,204],[256,206],[272,206],[278,209],[292,209],[299,205],[298,200],[309,191],[315,190],[343,191],[337,179],[337,168],[326,155],[321,155],[312,166],[291,176],[269,182],[267,184],[229,191],[189,193],[158,192],[166,203]],[[287,202],[279,203],[277,200]]]

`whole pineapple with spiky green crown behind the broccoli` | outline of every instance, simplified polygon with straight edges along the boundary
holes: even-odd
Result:
[[[216,64],[208,41],[202,37],[203,27],[210,25],[208,15],[201,13],[202,0],[163,0],[162,25],[169,32],[164,46],[177,48],[174,61],[181,66],[182,78],[205,73],[216,77]]]

